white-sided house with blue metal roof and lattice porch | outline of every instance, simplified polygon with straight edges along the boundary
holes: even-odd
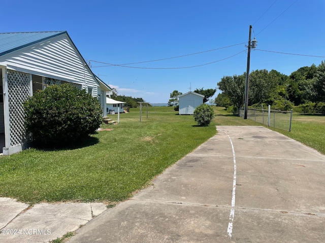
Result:
[[[0,33],[0,75],[3,154],[29,146],[23,102],[46,85],[68,82],[85,89],[99,99],[106,116],[106,92],[111,89],[92,73],[67,31]]]

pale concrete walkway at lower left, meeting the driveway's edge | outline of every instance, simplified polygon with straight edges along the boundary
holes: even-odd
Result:
[[[36,204],[1,229],[0,242],[48,242],[77,230],[105,210],[104,204]]]

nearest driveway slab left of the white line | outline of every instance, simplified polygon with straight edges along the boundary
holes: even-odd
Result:
[[[69,242],[229,242],[224,208],[129,200],[96,219]]]

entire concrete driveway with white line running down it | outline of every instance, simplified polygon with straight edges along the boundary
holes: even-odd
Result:
[[[69,242],[325,242],[325,156],[264,127],[217,129]]]

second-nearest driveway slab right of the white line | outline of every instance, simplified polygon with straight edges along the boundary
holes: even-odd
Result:
[[[324,161],[239,157],[236,206],[325,214]]]

